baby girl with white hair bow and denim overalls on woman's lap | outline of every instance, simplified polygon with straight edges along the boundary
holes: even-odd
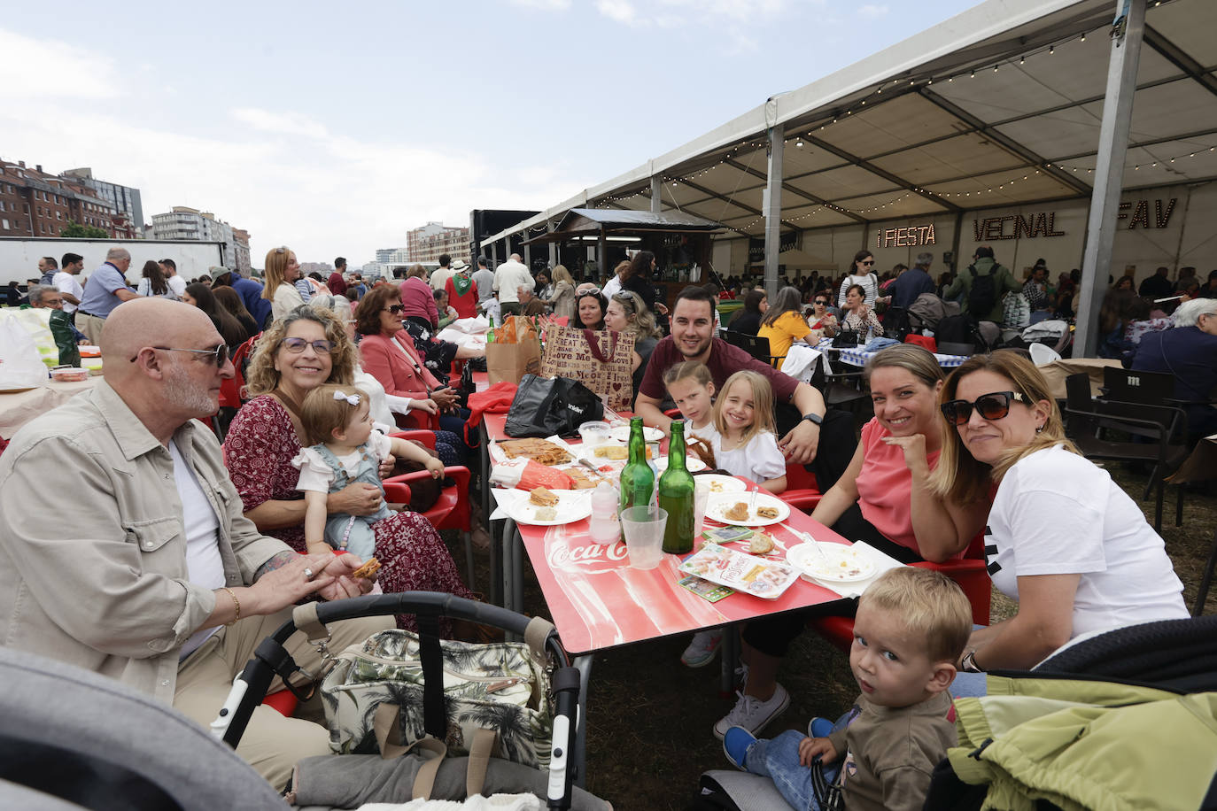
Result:
[[[380,461],[389,454],[421,462],[433,478],[444,473],[443,462],[420,446],[374,430],[368,394],[353,385],[326,384],[309,392],[301,422],[315,443],[292,460],[301,472],[296,489],[304,491],[304,542],[310,553],[331,548],[361,558],[375,553],[372,524],[389,514],[378,472]],[[370,516],[329,514],[326,496],[354,481],[381,488],[380,509]]]

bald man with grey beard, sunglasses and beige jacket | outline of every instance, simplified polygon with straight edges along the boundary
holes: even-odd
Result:
[[[297,601],[372,584],[349,576],[358,557],[297,554],[242,516],[219,443],[198,422],[234,373],[202,310],[127,302],[106,319],[101,355],[103,379],[27,423],[0,456],[0,640],[206,725]],[[51,481],[69,500],[54,513],[39,507]],[[387,625],[335,624],[331,646]],[[288,651],[305,669],[320,664],[304,640]],[[254,710],[237,748],[276,788],[298,760],[327,751],[324,727],[270,708]]]

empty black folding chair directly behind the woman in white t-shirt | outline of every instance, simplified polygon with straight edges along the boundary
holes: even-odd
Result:
[[[1154,530],[1162,529],[1162,491],[1166,477],[1188,456],[1185,438],[1188,418],[1173,406],[1126,402],[1122,400],[1092,400],[1090,378],[1084,372],[1065,378],[1067,395],[1066,430],[1086,458],[1122,462],[1146,462],[1154,466],[1142,499],[1149,499],[1156,488]],[[1106,439],[1109,429],[1121,430],[1142,441]],[[1183,489],[1174,511],[1174,525],[1183,524]]]

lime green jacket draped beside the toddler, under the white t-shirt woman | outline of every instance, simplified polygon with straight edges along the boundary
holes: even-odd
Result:
[[[989,784],[983,809],[1200,807],[1217,771],[1217,693],[1101,681],[988,677],[955,702],[955,775]]]

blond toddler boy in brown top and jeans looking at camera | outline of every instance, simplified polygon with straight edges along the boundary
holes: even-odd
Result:
[[[947,688],[971,629],[971,606],[944,575],[913,567],[884,573],[858,602],[849,669],[862,694],[853,709],[836,725],[813,719],[811,737],[791,730],[758,740],[731,727],[723,738],[728,760],[773,778],[800,810],[920,809],[935,765],[957,742]]]

